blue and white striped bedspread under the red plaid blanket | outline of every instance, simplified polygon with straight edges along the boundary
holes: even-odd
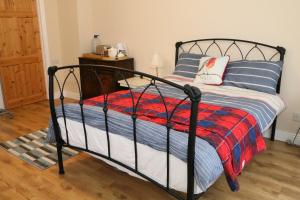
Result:
[[[165,84],[157,85],[163,96],[177,99],[186,97],[183,91],[179,89]],[[142,90],[143,88],[141,87],[134,91],[141,92]],[[153,86],[148,88],[147,92],[157,94],[157,90]],[[204,92],[202,93],[201,102],[244,109],[256,118],[261,130],[264,130],[276,117],[276,111],[266,102],[260,100]],[[79,105],[65,105],[65,113],[68,119],[82,122]],[[105,131],[102,109],[94,106],[84,106],[84,115],[87,125]],[[113,110],[108,111],[108,116],[110,133],[122,135],[133,140],[133,126],[130,116]],[[61,107],[57,108],[57,117],[63,117]],[[171,130],[170,132],[170,153],[183,161],[186,161],[187,158],[187,136],[186,133],[175,130]],[[51,122],[49,125],[48,140],[55,141]],[[166,151],[166,128],[152,122],[137,120],[137,141],[156,150]],[[201,190],[206,191],[222,172],[223,166],[216,150],[206,141],[196,138],[195,178]]]

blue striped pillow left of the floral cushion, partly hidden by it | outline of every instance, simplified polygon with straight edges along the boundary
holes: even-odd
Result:
[[[204,55],[181,53],[173,74],[187,78],[195,78],[198,73],[199,62],[202,57],[204,57]]]

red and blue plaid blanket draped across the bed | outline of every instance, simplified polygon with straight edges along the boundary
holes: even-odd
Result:
[[[133,92],[135,104],[141,95]],[[86,105],[103,107],[103,96],[85,101]],[[179,99],[165,97],[169,114],[180,102]],[[120,91],[108,96],[108,108],[132,113],[132,98],[129,91]],[[137,109],[138,119],[166,125],[166,110],[161,97],[143,94]],[[189,131],[190,102],[183,102],[174,113],[173,129]],[[221,158],[225,175],[233,191],[239,189],[237,176],[251,158],[266,148],[265,141],[255,118],[244,110],[212,104],[199,104],[197,136],[209,142]]]

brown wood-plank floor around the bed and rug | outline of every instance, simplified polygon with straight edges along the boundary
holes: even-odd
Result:
[[[48,102],[13,110],[15,118],[0,119],[0,141],[47,127]],[[0,199],[173,199],[156,186],[130,177],[81,153],[65,162],[66,174],[57,166],[38,170],[0,149]],[[202,199],[300,199],[300,148],[268,142],[239,178],[240,191],[229,190],[224,176]]]

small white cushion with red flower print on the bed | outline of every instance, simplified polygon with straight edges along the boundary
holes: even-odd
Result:
[[[201,58],[194,82],[207,85],[221,85],[228,62],[229,56]]]

